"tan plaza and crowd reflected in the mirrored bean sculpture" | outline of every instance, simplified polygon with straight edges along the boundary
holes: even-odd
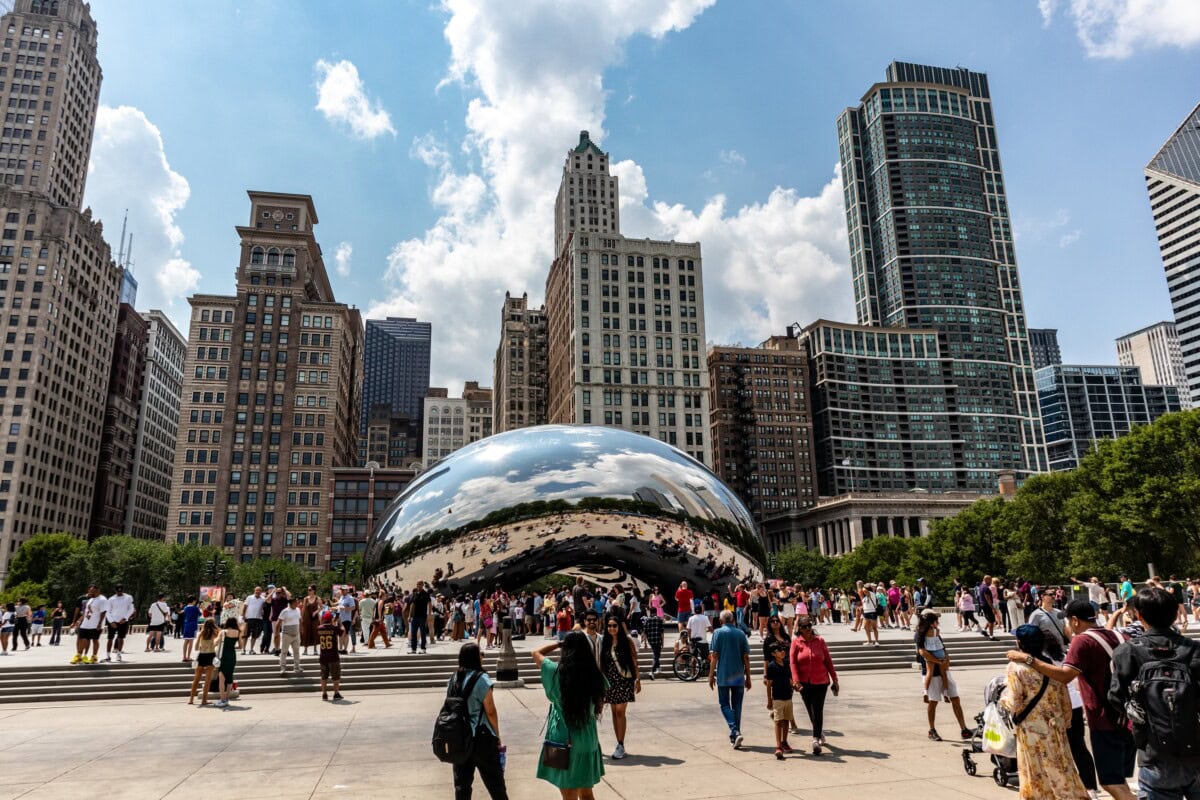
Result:
[[[738,553],[716,536],[688,523],[665,521],[629,512],[559,512],[515,524],[497,525],[464,534],[462,537],[431,547],[385,572],[386,577],[412,583],[428,579],[434,587],[448,587],[455,575],[472,579],[472,573],[516,565],[516,557],[534,557],[535,549],[548,554],[558,547],[577,548],[583,555],[600,553],[602,542],[634,540],[641,542],[659,561],[694,564],[691,575],[703,582],[752,579],[752,566],[739,566]],[[457,558],[464,566],[444,560]],[[445,569],[440,564],[445,564]],[[433,564],[439,566],[432,567]],[[426,567],[428,565],[428,567]],[[432,567],[432,569],[430,569]],[[497,579],[497,578],[492,578]]]

